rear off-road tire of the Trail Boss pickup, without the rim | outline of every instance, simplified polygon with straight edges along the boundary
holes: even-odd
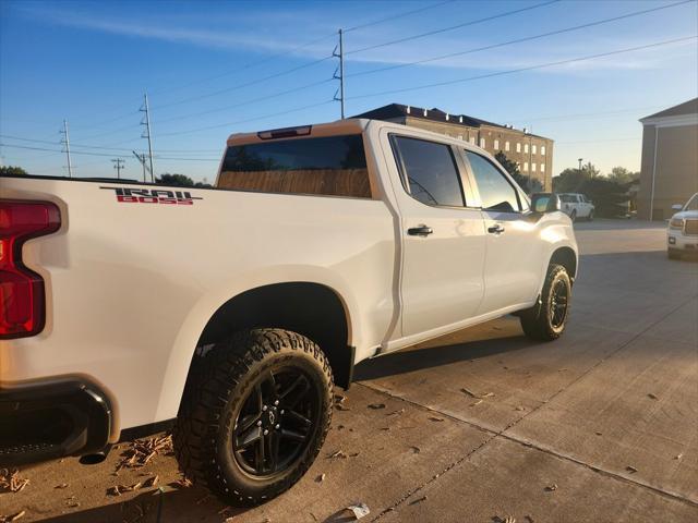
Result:
[[[298,365],[317,389],[318,423],[301,455],[270,477],[246,474],[236,461],[233,429],[254,384],[279,365]],[[190,369],[173,429],[174,452],[185,476],[226,503],[255,506],[297,483],[320,452],[332,422],[332,369],[308,338],[281,329],[254,329],[216,343]]]

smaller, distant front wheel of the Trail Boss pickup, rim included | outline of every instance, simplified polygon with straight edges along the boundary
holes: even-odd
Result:
[[[519,315],[526,336],[539,341],[552,341],[565,330],[569,316],[571,281],[562,265],[551,264],[541,292],[540,305]]]

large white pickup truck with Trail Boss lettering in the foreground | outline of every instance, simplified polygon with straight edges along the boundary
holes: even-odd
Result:
[[[569,218],[483,150],[350,119],[236,134],[216,188],[0,179],[0,463],[173,422],[232,504],[296,483],[356,363],[507,314],[561,336]]]

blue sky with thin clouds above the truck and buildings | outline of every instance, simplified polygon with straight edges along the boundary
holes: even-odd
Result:
[[[0,161],[67,175],[65,119],[73,175],[137,179],[147,93],[156,173],[213,181],[232,133],[340,118],[339,28],[348,117],[526,126],[555,174],[639,170],[638,119],[698,96],[696,0],[1,0]]]

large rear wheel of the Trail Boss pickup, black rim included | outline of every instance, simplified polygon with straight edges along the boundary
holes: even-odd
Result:
[[[308,338],[239,332],[192,366],[173,433],[180,466],[226,503],[267,501],[317,457],[332,391],[327,360]]]

